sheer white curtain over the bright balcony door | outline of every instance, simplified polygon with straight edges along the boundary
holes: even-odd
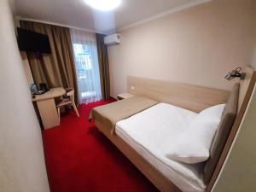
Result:
[[[73,55],[78,79],[79,103],[102,99],[96,36],[93,32],[71,29]]]

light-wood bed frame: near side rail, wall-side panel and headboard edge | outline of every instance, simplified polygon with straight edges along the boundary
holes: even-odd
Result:
[[[253,86],[256,81],[256,72],[250,67],[245,67],[244,72],[246,73],[246,78],[242,79],[240,82],[239,107],[236,120],[230,131],[230,136],[224,146],[221,157],[218,160],[218,165],[212,174],[210,183],[207,185],[207,192],[211,191],[218,177],[218,173],[224,164],[224,160],[236,136],[236,131],[241,123],[241,118],[245,113],[247,103],[253,91]],[[170,103],[181,108],[187,108],[197,113],[212,105],[226,102],[230,95],[230,92],[225,90],[131,76],[128,77],[128,92],[138,96],[146,96],[159,102]],[[112,135],[111,131],[106,129],[106,126],[102,125],[97,120],[95,120],[95,123],[96,127],[102,131],[102,133],[108,137],[108,139],[119,148],[152,183],[154,183],[154,186],[160,189],[160,191],[181,192],[175,184],[164,177],[154,166],[149,164],[147,160],[143,159],[129,144],[125,143],[125,141],[117,135]]]

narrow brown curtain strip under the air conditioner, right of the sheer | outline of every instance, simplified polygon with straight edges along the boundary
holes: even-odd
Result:
[[[102,98],[108,99],[110,96],[108,47],[104,44],[104,37],[105,35],[96,33],[96,44],[101,77]]]

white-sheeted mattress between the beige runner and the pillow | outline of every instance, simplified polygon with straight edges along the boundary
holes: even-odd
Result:
[[[166,158],[172,139],[187,129],[197,113],[166,103],[159,103],[120,120],[115,127],[138,154],[184,192],[205,191],[202,164],[185,164]]]

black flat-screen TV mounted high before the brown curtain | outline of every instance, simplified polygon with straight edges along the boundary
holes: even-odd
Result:
[[[17,28],[18,45],[20,50],[39,54],[50,54],[49,38],[47,35]]]

